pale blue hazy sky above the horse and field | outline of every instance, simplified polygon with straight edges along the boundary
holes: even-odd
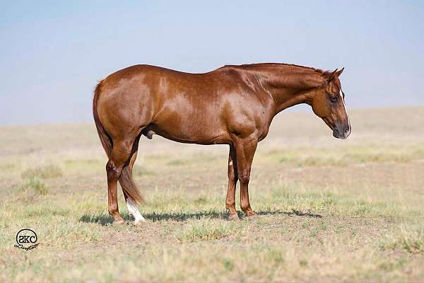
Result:
[[[346,67],[348,108],[424,104],[424,1],[1,2],[0,125],[89,122],[133,64]]]

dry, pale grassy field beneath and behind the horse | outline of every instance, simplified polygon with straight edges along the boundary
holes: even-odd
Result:
[[[143,226],[122,192],[129,223],[112,225],[92,124],[0,127],[0,282],[424,282],[424,108],[351,123],[341,141],[311,113],[276,117],[252,169],[259,217],[239,222],[228,146],[141,139]],[[40,246],[13,247],[23,228]]]

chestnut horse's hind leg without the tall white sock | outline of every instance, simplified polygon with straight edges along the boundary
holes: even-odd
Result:
[[[118,198],[117,198],[117,183],[119,175],[121,175],[122,168],[126,161],[128,161],[131,154],[134,139],[128,140],[114,140],[112,152],[109,161],[106,164],[107,171],[107,204],[110,215],[112,215],[114,222],[121,224],[124,219],[119,215]]]

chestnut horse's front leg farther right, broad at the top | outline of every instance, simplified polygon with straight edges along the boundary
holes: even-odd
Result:
[[[257,137],[237,137],[234,141],[237,155],[237,174],[240,180],[240,208],[248,217],[256,215],[249,202],[249,178],[254,152],[257,149]]]

